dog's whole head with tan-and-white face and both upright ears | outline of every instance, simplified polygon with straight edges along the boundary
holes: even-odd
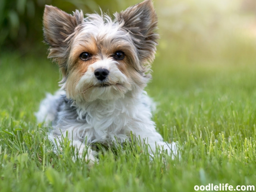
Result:
[[[150,79],[156,51],[156,12],[151,0],[108,15],[45,6],[44,39],[60,67],[67,97],[111,100],[136,94]]]

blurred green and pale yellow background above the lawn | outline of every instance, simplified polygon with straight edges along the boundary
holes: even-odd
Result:
[[[139,2],[141,1],[1,0],[0,50],[18,51],[21,55],[46,52],[46,46],[42,43],[45,4],[52,4],[68,13],[75,9],[82,9],[84,13],[100,12],[99,6],[104,12],[113,13]],[[161,52],[168,52],[168,57],[165,57],[167,60],[178,58],[182,62],[191,62],[228,54],[234,56],[234,61],[237,62],[239,48],[236,48],[236,43],[250,44],[254,41],[253,45],[249,45],[252,47],[247,48],[255,48],[255,0],[156,0],[154,4],[159,17],[159,49]]]

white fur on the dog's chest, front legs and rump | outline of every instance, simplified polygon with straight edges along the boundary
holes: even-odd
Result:
[[[62,92],[63,93],[63,92]],[[48,113],[54,111],[51,105],[58,103],[60,92],[54,96],[48,94],[47,98],[41,102],[39,112],[37,113],[38,121],[45,119]],[[73,140],[73,145],[77,147],[78,154],[82,156],[86,145],[94,142],[111,144],[116,142],[124,142],[130,138],[130,133],[140,137],[140,142],[146,141],[150,148],[148,151],[151,154],[155,153],[156,146],[160,149],[163,147],[168,154],[174,157],[177,153],[177,147],[174,142],[167,144],[163,141],[162,136],[156,132],[155,123],[151,120],[150,101],[145,92],[138,94],[137,97],[126,95],[124,98],[117,100],[96,100],[93,102],[82,103],[77,106],[74,102],[72,105],[77,107],[77,119],[74,119],[70,124],[65,126],[57,124],[51,132],[49,138],[54,140],[58,136],[60,139],[61,132],[68,138]],[[48,106],[48,108],[47,108]],[[79,122],[86,115],[86,123]],[[52,118],[52,117],[51,117]],[[87,141],[87,143],[84,143]],[[88,148],[88,156],[86,160],[97,162],[94,157],[95,152]]]

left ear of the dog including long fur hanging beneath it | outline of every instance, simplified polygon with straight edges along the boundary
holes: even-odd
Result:
[[[67,76],[67,38],[75,31],[75,28],[84,22],[82,11],[76,10],[70,15],[57,7],[45,5],[43,24],[44,41],[50,45],[48,58],[56,61],[62,72],[62,81]]]

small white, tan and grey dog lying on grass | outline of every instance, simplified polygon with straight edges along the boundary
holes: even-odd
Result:
[[[92,163],[98,162],[92,143],[122,143],[131,133],[152,155],[156,147],[176,155],[175,143],[156,132],[143,91],[158,39],[151,0],[115,13],[114,20],[46,5],[43,23],[48,57],[62,72],[61,91],[47,94],[36,113],[38,122],[52,122],[51,140],[67,135],[79,156],[87,150],[85,160]]]

